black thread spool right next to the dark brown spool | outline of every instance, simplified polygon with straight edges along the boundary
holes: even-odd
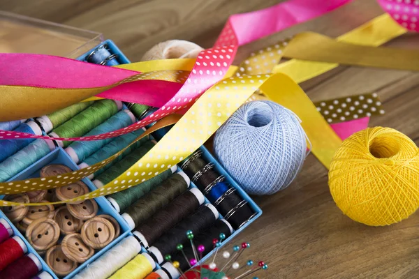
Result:
[[[191,230],[195,234],[203,232],[203,230],[214,225],[215,220],[219,218],[219,213],[212,204],[205,204],[193,213],[192,216],[182,220],[176,227],[170,229],[164,236],[157,240],[150,252],[157,262],[163,262],[163,255],[170,255],[176,251],[177,244],[188,241],[186,232]]]

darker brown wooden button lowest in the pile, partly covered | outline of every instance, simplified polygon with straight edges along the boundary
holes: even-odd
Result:
[[[47,250],[45,262],[57,276],[66,276],[77,268],[77,263],[68,259],[61,246],[56,245]]]

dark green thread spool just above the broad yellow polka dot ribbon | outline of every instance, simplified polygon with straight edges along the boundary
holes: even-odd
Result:
[[[134,163],[136,163],[142,156],[153,148],[155,141],[148,141],[142,144],[138,149],[135,149],[127,156],[122,158],[118,163],[112,165],[106,172],[99,174],[96,179],[93,181],[94,185],[97,188],[101,188],[108,184],[113,179],[116,179],[119,175],[123,174],[127,169],[129,169]]]

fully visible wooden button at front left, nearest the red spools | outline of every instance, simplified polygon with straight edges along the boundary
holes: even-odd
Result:
[[[27,227],[26,237],[35,250],[47,250],[54,246],[59,239],[58,224],[48,218],[34,220]]]

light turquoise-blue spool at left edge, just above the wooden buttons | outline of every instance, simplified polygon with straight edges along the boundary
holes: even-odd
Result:
[[[5,182],[55,149],[52,140],[38,139],[0,163],[0,181]]]

